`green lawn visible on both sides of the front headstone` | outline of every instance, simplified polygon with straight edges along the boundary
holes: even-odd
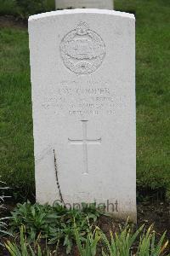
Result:
[[[116,0],[115,8],[137,19],[137,184],[170,198],[170,2]],[[26,196],[34,191],[26,28],[0,29],[0,63],[0,176],[16,197]]]

